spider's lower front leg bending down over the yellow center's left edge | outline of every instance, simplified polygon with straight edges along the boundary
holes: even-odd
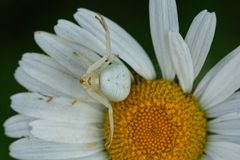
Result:
[[[109,134],[109,139],[106,142],[106,146],[110,147],[111,143],[112,143],[112,139],[113,139],[113,133],[114,133],[114,121],[113,121],[112,105],[103,94],[101,94],[97,91],[92,91],[91,89],[87,89],[87,92],[91,97],[94,97],[94,99],[96,99],[98,102],[103,104],[108,109],[110,134]]]

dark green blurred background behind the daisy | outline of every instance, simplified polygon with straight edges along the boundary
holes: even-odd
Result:
[[[214,42],[199,78],[223,56],[240,44],[240,1],[177,0],[180,32],[185,36],[194,16],[203,9],[217,14]],[[125,28],[153,59],[149,32],[148,0],[1,0],[0,1],[0,159],[11,160],[8,147],[13,139],[4,135],[3,122],[14,115],[9,97],[24,91],[13,74],[22,54],[40,52],[33,40],[33,32],[53,32],[58,19],[74,21],[77,8],[98,11]]]

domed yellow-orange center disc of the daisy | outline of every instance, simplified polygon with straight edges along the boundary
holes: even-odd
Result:
[[[197,160],[206,141],[206,118],[192,95],[174,82],[142,81],[112,103],[112,160]],[[109,137],[106,115],[104,137]]]

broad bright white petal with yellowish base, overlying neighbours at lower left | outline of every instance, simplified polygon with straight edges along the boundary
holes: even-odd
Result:
[[[58,143],[93,143],[103,139],[102,129],[94,124],[61,123],[37,120],[30,123],[31,133],[40,139]]]

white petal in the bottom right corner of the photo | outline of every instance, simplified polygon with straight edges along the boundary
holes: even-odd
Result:
[[[207,142],[205,152],[213,160],[240,159],[240,145],[230,142]]]

